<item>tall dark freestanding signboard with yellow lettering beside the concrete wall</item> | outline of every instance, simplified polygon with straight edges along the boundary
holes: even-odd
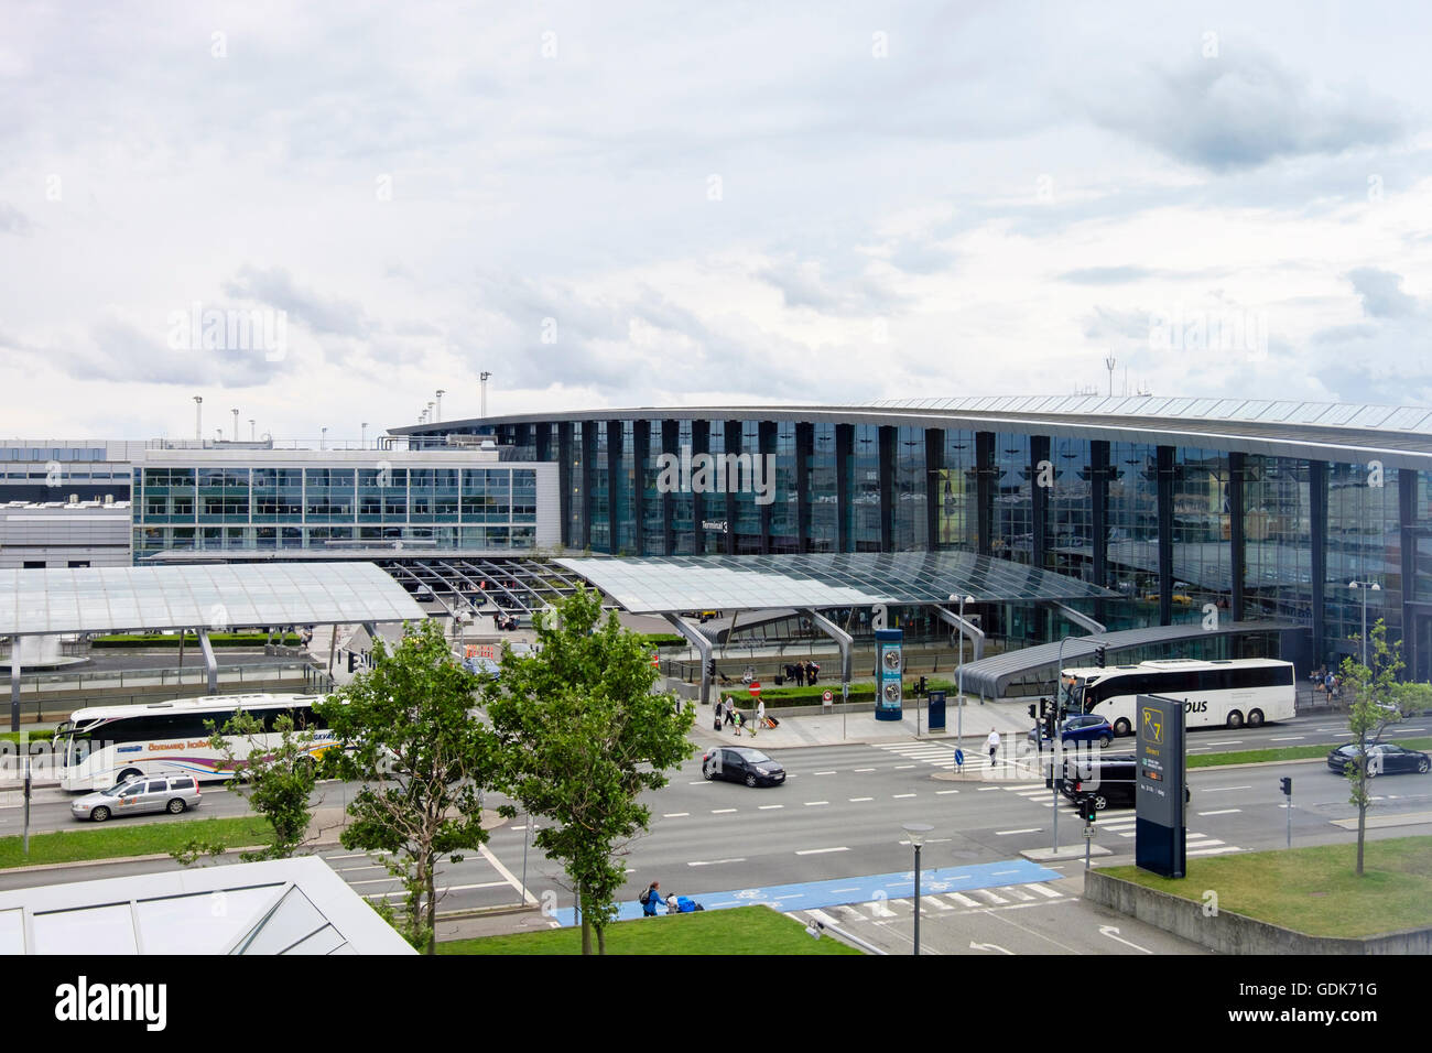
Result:
[[[1140,695],[1134,703],[1134,862],[1161,877],[1187,874],[1183,702]]]

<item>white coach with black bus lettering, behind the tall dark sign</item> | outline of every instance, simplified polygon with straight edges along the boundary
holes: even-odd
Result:
[[[1134,731],[1138,695],[1183,699],[1187,728],[1259,728],[1293,716],[1293,663],[1272,658],[1201,662],[1170,658],[1107,669],[1063,669],[1061,703],[1070,713],[1097,713],[1114,735]]]

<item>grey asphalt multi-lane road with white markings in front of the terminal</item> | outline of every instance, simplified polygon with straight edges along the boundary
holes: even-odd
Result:
[[[1403,731],[1416,734],[1421,726],[1412,722]],[[1280,739],[1276,745],[1296,745],[1296,739],[1289,741],[1295,735],[1306,742],[1330,742],[1345,734],[1346,725],[1335,719],[1305,718],[1257,732],[1204,732],[1190,736],[1190,745],[1193,749],[1254,748],[1273,745],[1273,738]],[[664,891],[702,900],[735,890],[908,871],[912,852],[902,844],[904,822],[934,827],[924,848],[922,868],[927,871],[997,864],[1018,860],[1024,850],[1050,847],[1053,794],[1041,781],[1005,766],[988,769],[984,756],[971,758],[961,778],[949,771],[951,755],[949,744],[942,742],[783,749],[778,759],[789,772],[786,785],[755,789],[703,779],[699,758],[693,758],[673,774],[669,787],[649,798],[652,831],[627,847],[632,878],[624,897],[634,901],[637,891],[652,880],[660,880]],[[1295,784],[1295,844],[1350,838],[1346,830],[1332,825],[1333,819],[1356,814],[1346,804],[1346,784],[1320,762],[1193,769],[1187,822],[1190,857],[1282,847],[1287,812],[1279,779],[1285,775]],[[1415,825],[1390,834],[1432,832],[1432,776],[1383,776],[1375,789],[1380,799],[1370,815],[1421,815]],[[344,784],[319,788],[328,807],[341,805],[352,791]],[[198,817],[245,812],[243,801],[229,791],[205,791],[203,801]],[[488,804],[497,802],[494,798]],[[19,818],[19,809],[0,809],[0,834],[17,832]],[[33,818],[36,828],[76,825],[64,802],[37,805]],[[158,821],[176,819],[159,817]],[[1095,844],[1114,854],[1104,857],[1106,862],[1131,857],[1133,825],[1131,811],[1101,814]],[[1073,811],[1061,802],[1061,844],[1080,844],[1080,827]],[[523,850],[528,838],[530,831],[518,818],[516,824],[494,830],[484,851],[458,864],[444,864],[440,885],[448,891],[441,910],[518,903]],[[337,847],[322,854],[361,894],[398,897],[398,885],[381,860]],[[172,865],[169,861],[117,862],[0,874],[0,887],[89,880]],[[928,905],[931,920],[928,928],[922,925],[922,934],[934,941],[934,950],[947,953],[968,953],[971,943],[1012,953],[1031,953],[1037,947],[1045,953],[1061,951],[1058,943],[1080,953],[1143,953],[1120,938],[1158,953],[1189,950],[1161,943],[1171,937],[1157,930],[1131,925],[1127,918],[1100,913],[1080,900],[1081,868],[1081,862],[1060,864],[1054,870],[1067,877],[1022,883],[1008,890],[995,884],[979,891],[938,894]],[[538,901],[546,895],[553,905],[571,904],[560,868],[536,850],[527,851],[526,884]],[[876,905],[891,914],[879,914]],[[912,920],[908,903],[889,900],[821,910],[836,925],[865,931],[863,938],[876,946],[908,947]],[[802,921],[822,920],[806,911],[792,913]],[[1110,925],[1120,933],[1104,933]]]

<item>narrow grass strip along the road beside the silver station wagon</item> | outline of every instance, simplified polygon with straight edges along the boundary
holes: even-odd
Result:
[[[32,834],[29,855],[20,851],[19,837],[0,837],[0,868],[152,855],[179,848],[195,838],[229,848],[248,848],[249,845],[268,844],[272,837],[274,828],[252,815],[233,819],[179,822],[129,824],[125,819],[76,822],[74,830]]]

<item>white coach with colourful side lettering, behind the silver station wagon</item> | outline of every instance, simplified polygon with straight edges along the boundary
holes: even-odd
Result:
[[[222,731],[235,711],[263,721],[265,734],[233,744],[238,758],[253,748],[281,742],[275,718],[288,713],[294,729],[311,732],[309,754],[319,756],[332,746],[334,734],[314,712],[322,695],[211,695],[130,706],[76,709],[54,732],[54,754],[64,789],[103,789],[126,779],[160,772],[193,772],[199,781],[228,779],[223,755],[209,745],[206,722]]]

